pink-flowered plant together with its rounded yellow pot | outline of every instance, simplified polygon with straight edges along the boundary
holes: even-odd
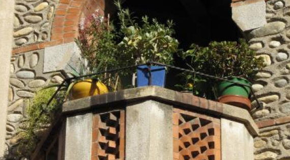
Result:
[[[109,18],[101,16],[98,10],[86,17],[79,25],[79,36],[75,42],[80,49],[82,60],[87,63],[81,65],[80,71],[82,73],[73,69],[73,74],[79,76],[118,67],[115,57],[117,54],[116,35]],[[70,84],[71,99],[107,93],[108,88],[100,79],[109,79],[108,85],[114,86],[114,90],[117,89],[118,82],[115,82],[116,78],[111,74],[93,76],[89,79],[81,78],[78,79],[81,81]]]

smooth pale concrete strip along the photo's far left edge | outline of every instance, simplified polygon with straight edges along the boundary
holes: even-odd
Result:
[[[13,15],[14,0],[2,0],[0,3],[0,157],[5,150]]]

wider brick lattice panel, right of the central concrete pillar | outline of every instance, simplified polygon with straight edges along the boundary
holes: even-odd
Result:
[[[173,112],[175,160],[220,160],[220,119],[175,109]]]

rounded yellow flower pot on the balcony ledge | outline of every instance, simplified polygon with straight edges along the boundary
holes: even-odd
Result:
[[[78,99],[98,94],[108,93],[109,90],[102,82],[92,79],[85,79],[75,83],[70,91],[70,99]]]

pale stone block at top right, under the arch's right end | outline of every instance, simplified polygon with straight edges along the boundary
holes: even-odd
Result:
[[[266,3],[259,1],[256,3],[232,8],[233,20],[242,31],[253,30],[264,26],[266,22]]]

